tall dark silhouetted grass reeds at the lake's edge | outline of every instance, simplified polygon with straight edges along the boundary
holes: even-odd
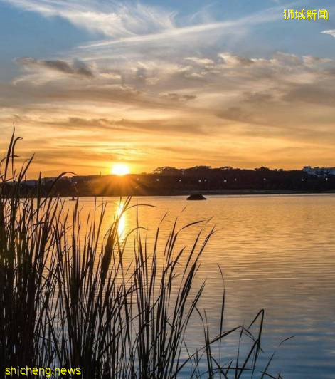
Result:
[[[172,225],[164,248],[159,229],[151,248],[139,225],[121,239],[127,199],[105,235],[106,205],[95,205],[80,237],[78,201],[69,212],[52,189],[42,197],[41,177],[37,194],[23,197],[31,160],[17,168],[17,141],[13,135],[0,165],[0,378],[9,365],[79,367],[82,378],[93,379],[275,378],[257,363],[263,311],[249,328],[225,331],[223,293],[218,333],[210,335],[199,307],[204,284],[197,288],[194,279],[213,231],[189,249],[177,241],[191,224]],[[192,351],[186,340],[194,318],[203,323],[203,343]],[[231,358],[225,338],[235,333]]]

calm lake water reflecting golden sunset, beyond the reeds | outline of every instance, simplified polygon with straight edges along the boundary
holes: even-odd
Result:
[[[104,227],[117,212],[117,199],[107,198]],[[98,203],[102,199],[98,200]],[[171,222],[179,225],[207,220],[181,236],[180,244],[193,242],[201,227],[216,226],[201,258],[198,285],[206,280],[201,307],[208,311],[213,333],[218,331],[222,281],[226,289],[225,328],[247,325],[265,308],[263,348],[268,358],[277,351],[272,372],[284,378],[335,378],[335,196],[275,195],[208,197],[205,202],[186,202],[185,197],[141,197],[140,224],[147,227],[149,242],[161,218],[161,234]],[[68,202],[68,207],[73,203]],[[94,199],[80,199],[83,218]],[[186,207],[186,209],[184,209]],[[212,217],[212,218],[211,218]],[[208,221],[209,219],[209,221]],[[135,223],[126,214],[120,232]],[[196,346],[201,335],[193,320],[188,337]],[[278,347],[285,338],[294,336]],[[232,342],[233,343],[233,342]],[[229,343],[228,343],[229,344]]]

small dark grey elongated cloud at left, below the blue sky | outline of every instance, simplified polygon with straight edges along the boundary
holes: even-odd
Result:
[[[86,63],[75,59],[73,63],[68,63],[61,60],[38,60],[35,58],[17,58],[16,63],[26,68],[46,68],[51,71],[58,71],[60,73],[85,76],[92,78],[94,76],[91,68]]]

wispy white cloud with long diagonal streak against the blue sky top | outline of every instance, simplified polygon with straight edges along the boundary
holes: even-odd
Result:
[[[270,7],[239,19],[216,21],[215,17],[208,14],[206,8],[181,18],[169,9],[141,3],[97,0],[2,1],[46,17],[59,16],[75,26],[100,33],[104,37],[102,41],[84,46],[95,49],[119,44],[171,41],[171,38],[183,43],[181,36],[185,40],[194,36],[208,36],[208,33],[211,33],[213,37],[220,30],[225,33],[240,34],[248,26],[282,19],[281,6]],[[202,22],[197,22],[198,20]]]

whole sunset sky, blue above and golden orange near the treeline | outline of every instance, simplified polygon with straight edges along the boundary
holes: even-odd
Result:
[[[0,34],[0,150],[15,124],[31,177],[335,166],[333,0],[0,0]]]

